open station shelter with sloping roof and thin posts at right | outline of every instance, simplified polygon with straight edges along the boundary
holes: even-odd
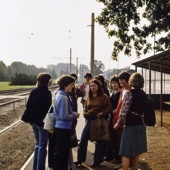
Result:
[[[145,79],[144,91],[152,98],[156,109],[160,109],[161,126],[163,111],[170,111],[170,50],[132,63]]]

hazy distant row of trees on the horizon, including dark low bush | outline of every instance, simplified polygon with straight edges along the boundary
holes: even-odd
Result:
[[[10,66],[6,66],[3,61],[0,61],[0,81],[10,81],[11,85],[34,85],[36,83],[36,76],[40,72],[48,72],[56,79],[63,74],[70,74],[69,63],[58,63],[57,65],[48,65],[47,68],[37,68],[34,65],[27,65],[22,62],[13,62]],[[79,81],[84,80],[85,72],[90,72],[87,65],[81,64],[79,68],[72,64],[72,73],[79,76]],[[106,79],[112,75],[118,74],[123,69],[113,69],[104,71],[105,67],[101,61],[94,61],[94,75],[104,74]],[[129,68],[126,68],[128,70]]]

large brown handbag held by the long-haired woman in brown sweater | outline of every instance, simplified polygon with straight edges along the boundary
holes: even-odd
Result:
[[[104,118],[92,120],[90,125],[90,140],[93,141],[110,141],[109,121]]]

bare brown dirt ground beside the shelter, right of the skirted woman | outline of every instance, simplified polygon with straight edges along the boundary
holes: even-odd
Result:
[[[140,156],[142,170],[170,170],[170,126],[147,127],[148,152]]]

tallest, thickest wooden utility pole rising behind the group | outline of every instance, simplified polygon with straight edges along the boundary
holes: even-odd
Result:
[[[91,15],[91,74],[94,77],[94,13]]]

